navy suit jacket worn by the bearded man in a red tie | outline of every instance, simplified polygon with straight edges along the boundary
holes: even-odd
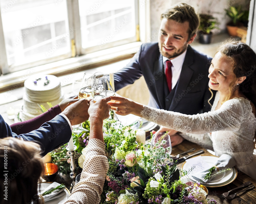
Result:
[[[115,90],[133,84],[143,75],[150,91],[149,106],[184,114],[207,112],[210,110],[207,101],[211,97],[210,62],[210,57],[188,45],[179,80],[169,93],[158,43],[145,43],[131,61],[114,74]]]

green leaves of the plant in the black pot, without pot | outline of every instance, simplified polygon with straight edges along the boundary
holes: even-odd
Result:
[[[200,14],[200,25],[198,30],[202,31],[205,34],[209,34],[212,29],[219,29],[216,25],[219,24],[217,19],[214,18],[212,15],[208,14]]]

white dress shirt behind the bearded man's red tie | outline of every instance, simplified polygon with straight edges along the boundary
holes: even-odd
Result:
[[[182,53],[181,55],[179,55],[178,57],[175,57],[174,59],[170,60],[173,64],[172,66],[172,89],[174,88],[174,86],[176,85],[177,81],[179,80],[179,75],[181,72],[181,68],[186,56],[187,50],[185,50],[184,53]],[[165,72],[165,61],[169,60],[167,57],[163,56],[163,63],[164,63],[164,72]]]

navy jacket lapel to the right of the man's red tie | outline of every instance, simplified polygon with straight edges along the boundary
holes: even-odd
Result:
[[[179,80],[176,84],[175,92],[174,93],[170,92],[170,94],[167,97],[172,101],[169,109],[166,107],[168,110],[173,111],[175,109],[175,107],[178,105],[177,99],[180,99],[180,97],[182,97],[181,94],[183,93],[183,90],[187,89],[194,73],[194,71],[189,67],[193,63],[194,63],[194,52],[193,52],[193,49],[190,47],[190,45],[188,45],[187,53],[182,65]]]

